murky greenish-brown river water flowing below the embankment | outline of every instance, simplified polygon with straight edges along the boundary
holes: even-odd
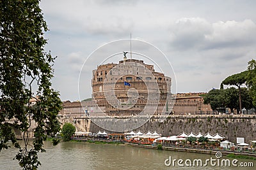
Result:
[[[39,158],[42,163],[39,169],[255,169],[255,160],[239,159],[237,167],[214,166],[208,162],[208,166],[180,167],[175,162],[175,166],[166,166],[164,161],[171,157],[173,159],[201,159],[203,164],[206,159],[216,159],[215,155],[200,153],[171,152],[163,150],[153,150],[138,148],[129,145],[95,144],[84,142],[61,142],[57,146],[52,146],[51,142],[45,142],[46,153],[40,153]],[[0,152],[0,169],[20,169],[17,160],[13,160],[17,150],[10,148]],[[228,159],[222,157],[221,159]],[[221,160],[220,159],[220,160]],[[217,160],[215,161],[216,163]],[[254,167],[241,167],[241,162],[252,162]],[[166,161],[168,164],[169,161]],[[214,163],[214,162],[213,162]],[[188,162],[189,164],[189,162]],[[193,165],[193,163],[192,163]],[[212,166],[213,165],[213,166]],[[239,167],[238,167],[239,166]]]

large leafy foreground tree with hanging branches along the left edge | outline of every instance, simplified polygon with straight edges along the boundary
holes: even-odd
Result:
[[[0,20],[0,151],[10,147],[10,140],[19,148],[19,165],[36,169],[37,153],[45,152],[43,142],[60,131],[57,115],[62,103],[51,89],[55,58],[44,51],[47,25],[39,1],[1,0]],[[36,99],[35,106],[30,99]],[[33,143],[26,138],[31,120],[36,124]],[[24,148],[17,143],[14,128],[23,133]]]

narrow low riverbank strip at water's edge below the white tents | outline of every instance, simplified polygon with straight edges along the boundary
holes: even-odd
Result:
[[[129,146],[139,147],[139,148],[148,148],[148,149],[157,150],[157,146],[152,146],[152,145],[139,145],[135,143],[125,143],[125,144]],[[236,157],[236,155],[243,155],[244,157],[241,157],[242,159],[246,159],[246,157],[253,157],[256,159],[256,153],[252,154],[252,153],[240,153],[240,152],[227,152],[222,150],[200,150],[196,148],[173,148],[173,147],[166,147],[166,146],[163,146],[162,148],[163,150],[169,150],[169,151],[175,151],[175,152],[204,153],[204,154],[212,154],[212,155],[215,155],[217,152],[221,152],[222,155],[232,154],[234,155],[234,157]]]

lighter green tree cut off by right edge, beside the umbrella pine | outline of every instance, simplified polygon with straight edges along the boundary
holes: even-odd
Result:
[[[246,85],[250,90],[253,106],[256,107],[256,60],[252,59],[248,62],[248,74],[246,76]]]

